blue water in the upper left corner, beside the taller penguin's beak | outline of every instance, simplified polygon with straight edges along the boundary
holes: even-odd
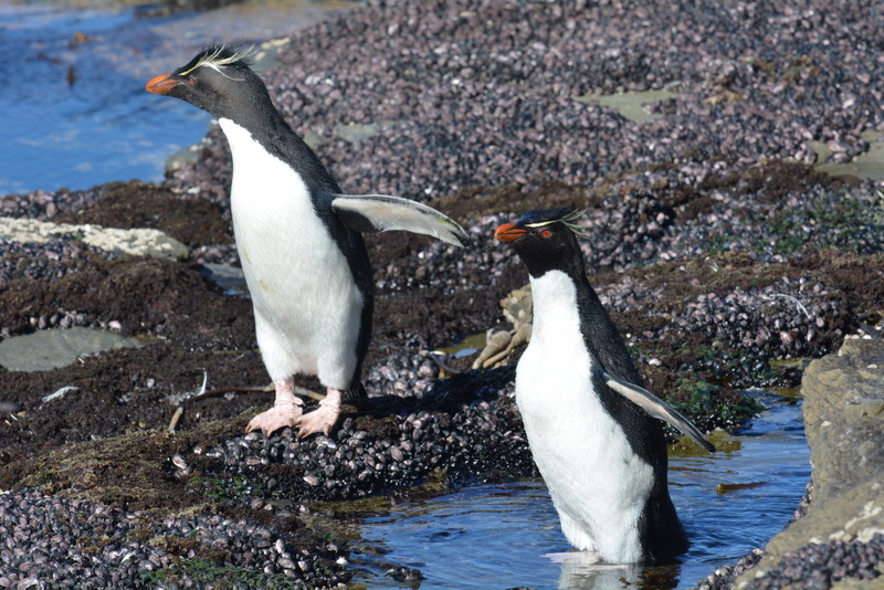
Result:
[[[208,115],[145,92],[126,44],[145,60],[157,48],[134,9],[3,2],[0,29],[0,194],[161,180],[166,158],[206,134]]]

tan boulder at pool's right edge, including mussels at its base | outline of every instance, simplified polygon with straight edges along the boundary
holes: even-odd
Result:
[[[813,467],[789,526],[699,588],[878,588],[884,562],[884,339],[852,337],[811,361],[801,382]]]

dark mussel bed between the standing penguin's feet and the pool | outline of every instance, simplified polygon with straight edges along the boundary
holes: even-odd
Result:
[[[457,390],[465,379],[432,381],[424,393],[428,404],[444,408],[448,399],[449,409],[394,413],[383,432],[360,430],[346,418],[328,438],[297,441],[292,429],[282,429],[266,439],[233,436],[206,454],[254,488],[269,487],[273,477],[274,488],[293,499],[389,493],[420,484],[433,472],[446,473],[453,483],[494,473],[536,476],[513,398],[512,368],[478,375],[477,390],[474,379],[465,386],[470,391]]]

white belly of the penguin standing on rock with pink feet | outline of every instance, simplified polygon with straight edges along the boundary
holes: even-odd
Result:
[[[301,176],[244,128],[219,123],[233,155],[233,231],[267,371],[274,381],[304,372],[345,389],[362,310],[347,261]]]

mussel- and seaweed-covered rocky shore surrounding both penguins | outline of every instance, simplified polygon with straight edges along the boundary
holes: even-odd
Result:
[[[807,144],[849,160],[867,150],[864,131],[884,131],[875,22],[871,2],[372,2],[294,33],[266,81],[341,186],[424,200],[474,241],[369,236],[372,398],[327,438],[240,434],[269,399],[254,391],[266,375],[251,305],[206,266],[236,262],[217,129],[164,185],[2,198],[4,228],[66,225],[4,238],[0,337],[90,326],[145,345],[53,371],[0,368],[0,588],[334,587],[350,576],[348,544],[304,524],[313,501],[534,474],[512,399],[520,348],[482,370],[433,351],[512,328],[499,302],[526,275],[493,229],[538,206],[587,207],[591,282],[651,389],[704,429],[750,419],[745,388],[803,376],[812,390],[827,355],[860,346],[845,336],[881,325],[882,183],[814,170]],[[572,99],[664,87],[677,97],[653,102],[662,116],[648,123]],[[86,240],[87,224],[156,230],[187,252],[133,256]],[[782,358],[821,360],[771,362]],[[240,391],[199,397],[203,376]],[[43,401],[65,387],[77,390]],[[876,396],[843,415],[872,420]],[[835,410],[820,420],[839,424]],[[874,529],[880,493],[861,506],[827,489],[814,441],[835,442],[807,415],[813,501],[786,533],[811,530],[827,506],[853,510],[842,525],[862,519],[870,502]],[[871,461],[863,441],[846,446]],[[848,533],[778,536],[737,587],[817,583],[794,563],[823,554],[836,572],[825,583],[880,581],[881,537]]]

